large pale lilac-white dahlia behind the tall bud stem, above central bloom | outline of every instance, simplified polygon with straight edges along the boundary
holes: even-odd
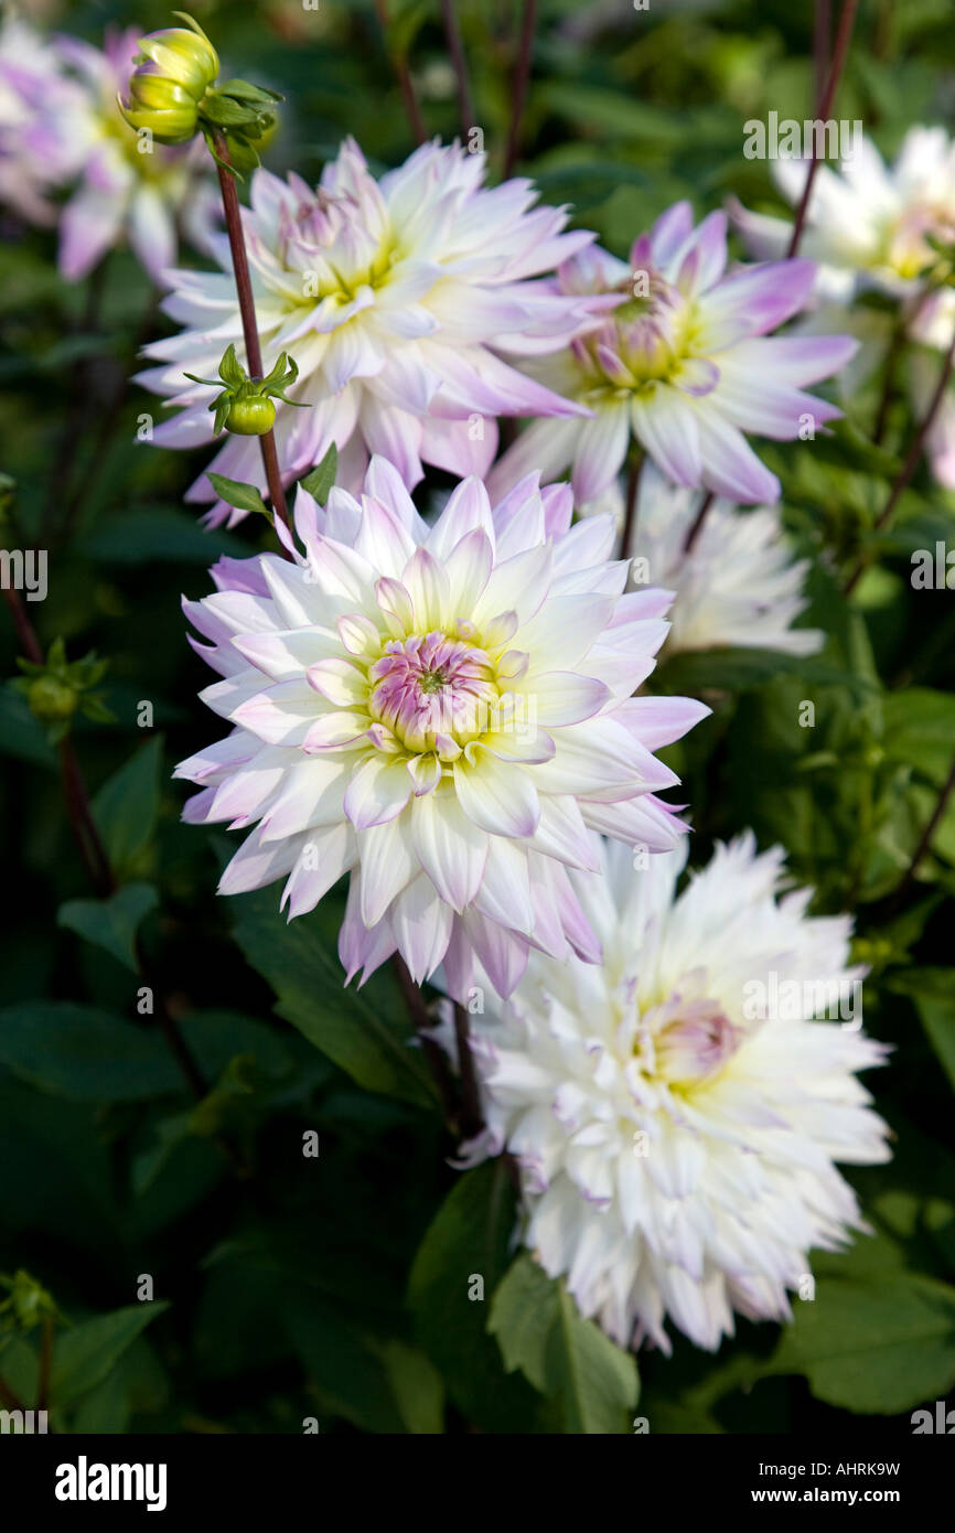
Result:
[[[244,213],[265,363],[287,351],[299,365],[277,412],[279,461],[300,477],[339,449],[340,483],[359,491],[369,454],[389,458],[412,487],[422,463],[484,474],[497,449],[497,415],[576,415],[578,405],[515,371],[521,356],[566,345],[593,302],[561,296],[550,271],[593,236],[563,235],[561,208],[533,208],[529,181],[483,187],[484,156],[458,144],[423,144],[380,181],[346,140],[316,190],[299,176],[251,179]],[[222,273],[178,271],[166,313],[185,327],[146,356],[159,366],[138,382],[179,414],[156,429],[173,448],[212,442],[208,391],[185,373],[215,373],[242,325],[225,241]],[[586,411],[584,411],[586,414]],[[213,468],[265,489],[256,443],[228,440]],[[202,475],[190,500],[215,500]],[[244,514],[216,503],[212,521]]]

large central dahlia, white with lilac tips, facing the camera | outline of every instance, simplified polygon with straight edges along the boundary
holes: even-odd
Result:
[[[291,918],[351,872],[348,978],[397,949],[463,995],[477,954],[506,995],[530,947],[599,960],[567,869],[595,866],[587,826],[676,845],[651,751],[708,710],[632,696],[670,596],[621,595],[613,520],[570,515],[567,486],[530,475],[492,510],[469,478],[429,529],[372,458],[360,503],[299,491],[296,563],[219,561],[185,612],[231,733],[178,776],[187,820],[254,826],[222,894],[285,878]]]

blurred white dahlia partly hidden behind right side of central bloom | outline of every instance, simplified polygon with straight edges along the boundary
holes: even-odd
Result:
[[[609,510],[622,523],[619,484],[590,501],[589,514]],[[802,593],[808,560],[793,560],[776,506],[739,510],[714,500],[685,552],[699,497],[678,489],[645,463],[639,478],[628,546],[633,587],[665,586],[674,593],[670,633],[661,655],[711,650],[724,644],[786,655],[816,655],[825,635],[793,629],[808,606]]]

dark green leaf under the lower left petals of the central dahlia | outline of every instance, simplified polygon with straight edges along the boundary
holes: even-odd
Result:
[[[235,906],[239,911],[235,938],[276,992],[279,1016],[365,1090],[418,1105],[434,1104],[437,1093],[420,1050],[411,1047],[397,986],[376,977],[362,990],[345,989],[323,912],[285,921],[271,889],[242,895]]]

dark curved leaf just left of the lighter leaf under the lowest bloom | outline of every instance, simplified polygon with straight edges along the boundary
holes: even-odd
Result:
[[[535,1397],[507,1378],[487,1334],[491,1295],[507,1268],[514,1188],[501,1160],[466,1171],[428,1228],[411,1269],[417,1337],[451,1398],[492,1432],[533,1430]]]

